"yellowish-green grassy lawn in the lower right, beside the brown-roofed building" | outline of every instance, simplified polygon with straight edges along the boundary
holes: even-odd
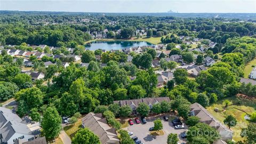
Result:
[[[226,98],[230,101],[233,102],[234,105],[227,107],[226,110],[223,110],[223,105],[222,102],[225,100],[219,100],[218,102],[214,103],[212,106],[207,107],[207,110],[215,117],[218,119],[218,121],[220,121],[221,123],[223,123],[224,119],[226,118],[227,115],[233,115],[236,117],[237,119],[237,125],[234,127],[231,127],[231,130],[234,132],[233,134],[233,139],[235,141],[239,141],[239,140],[243,140],[243,138],[240,136],[240,133],[242,131],[242,128],[247,127],[247,124],[249,124],[248,121],[246,121],[244,119],[244,116],[246,115],[243,111],[246,111],[246,113],[248,114],[252,114],[253,111],[256,110],[256,103],[249,101],[249,100],[242,100],[241,99],[241,105],[235,105],[235,103],[237,103],[237,99],[235,97],[230,97],[230,98]],[[215,112],[214,108],[219,108],[220,111],[222,112]],[[238,109],[241,110],[238,110]]]

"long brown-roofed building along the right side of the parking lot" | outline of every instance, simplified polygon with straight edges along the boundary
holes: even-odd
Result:
[[[228,129],[225,125],[222,125],[217,121],[203,106],[199,103],[193,103],[190,106],[190,115],[197,116],[200,118],[200,122],[208,124],[211,127],[217,129],[220,133],[221,140],[232,139],[233,131]]]

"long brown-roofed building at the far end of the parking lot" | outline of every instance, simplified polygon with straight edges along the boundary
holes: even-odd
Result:
[[[120,107],[130,106],[132,109],[131,115],[138,115],[139,113],[137,112],[137,108],[139,106],[139,103],[144,102],[151,109],[154,104],[161,103],[162,101],[170,102],[170,98],[169,97],[159,97],[159,98],[143,98],[143,99],[134,99],[134,100],[118,100],[118,101],[114,101],[114,103],[118,103],[118,105]]]

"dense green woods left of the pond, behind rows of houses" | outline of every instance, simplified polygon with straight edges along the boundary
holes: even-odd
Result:
[[[30,45],[46,44],[49,46],[82,45],[91,36],[84,31],[70,26],[30,26],[23,24],[1,25],[1,45],[20,45],[25,42]]]

